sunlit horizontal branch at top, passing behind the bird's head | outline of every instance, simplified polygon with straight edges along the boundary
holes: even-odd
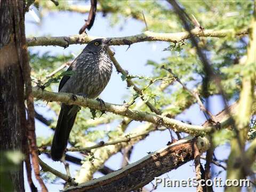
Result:
[[[196,37],[226,37],[232,33],[235,33],[234,29],[223,29],[214,30],[208,29],[202,31],[201,29],[191,30],[191,33]],[[235,35],[246,35],[248,34],[247,29],[243,29],[235,33]],[[82,35],[71,35],[71,36],[60,36],[60,37],[30,37],[27,38],[28,46],[48,46],[57,45],[62,47],[67,47],[71,44],[86,44],[95,38],[103,38],[96,36]],[[126,37],[111,37],[110,45],[131,45],[133,43],[139,42],[150,42],[150,41],[166,41],[177,43],[189,39],[190,35],[188,32],[178,32],[178,33],[154,33],[151,31],[145,31],[139,35],[126,36]]]

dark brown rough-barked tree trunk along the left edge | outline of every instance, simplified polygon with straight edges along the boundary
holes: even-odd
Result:
[[[26,141],[26,111],[24,103],[24,46],[25,37],[23,1],[0,0],[0,81],[1,81],[1,134],[0,150],[20,150]],[[18,171],[6,173],[15,191],[25,191],[23,162]],[[3,183],[2,183],[3,184]],[[2,186],[2,184],[0,184]]]

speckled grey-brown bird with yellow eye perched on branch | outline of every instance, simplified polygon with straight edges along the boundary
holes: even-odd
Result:
[[[110,38],[99,38],[85,46],[67,69],[71,71],[71,75],[63,75],[61,78],[60,93],[72,93],[90,99],[99,96],[108,84],[112,73],[113,62],[107,51],[110,41]],[[61,161],[79,109],[77,105],[61,103],[51,146],[53,161]]]

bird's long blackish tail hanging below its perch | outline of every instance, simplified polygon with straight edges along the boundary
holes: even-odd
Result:
[[[61,105],[60,115],[54,132],[51,147],[51,157],[53,161],[59,161],[67,147],[69,133],[74,125],[78,106]]]

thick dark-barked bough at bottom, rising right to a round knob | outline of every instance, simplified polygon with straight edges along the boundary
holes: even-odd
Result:
[[[147,185],[154,177],[177,169],[177,167],[193,159],[194,142],[194,138],[187,137],[149,154],[121,170],[77,187],[67,188],[64,191],[131,191],[138,189]],[[196,142],[201,153],[209,148],[210,143],[206,138],[199,137]],[[138,177],[138,175],[145,175],[145,177]]]

